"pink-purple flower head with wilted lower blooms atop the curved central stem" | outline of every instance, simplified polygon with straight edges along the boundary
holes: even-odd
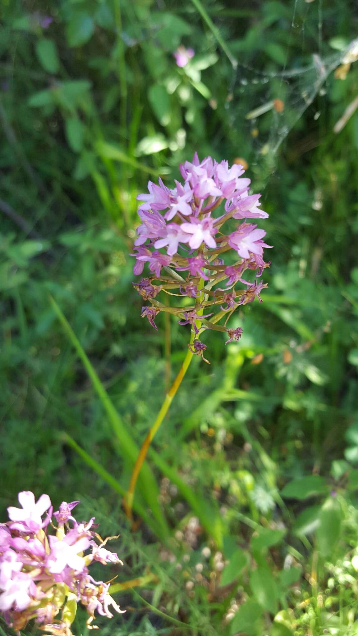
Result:
[[[175,181],[175,188],[168,188],[161,179],[159,184],[149,181],[148,193],[137,197],[141,225],[134,243],[134,273],[141,274],[147,263],[150,277],[135,287],[144,300],[152,302],[152,307],[143,307],[142,315],[155,328],[157,313],[168,310],[154,300],[159,291],[193,298],[196,313],[218,305],[231,315],[254,298],[261,302],[261,290],[267,287],[262,280],[243,279],[247,270],[254,270],[256,279],[261,277],[269,266],[264,248],[271,247],[263,240],[266,232],[252,223],[268,214],[260,207],[261,195],[249,193],[250,179],[243,176],[243,166],[229,167],[227,161],[218,163],[211,157],[200,162],[195,153],[192,162],[180,165],[180,172],[183,181]],[[187,272],[185,279],[182,272]],[[219,286],[223,282],[224,288]],[[238,282],[240,289],[235,287]],[[170,312],[183,317],[183,307],[171,307]],[[205,321],[204,327],[213,328],[213,324],[213,319]],[[242,331],[234,333],[226,323],[215,329],[227,331],[230,342],[238,340]],[[197,352],[201,354],[201,347],[197,346]]]

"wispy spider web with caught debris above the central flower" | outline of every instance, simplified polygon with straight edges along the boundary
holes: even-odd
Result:
[[[295,0],[291,29],[296,27],[297,9]],[[261,179],[266,180],[276,167],[276,156],[290,130],[301,119],[317,95],[326,94],[326,81],[341,64],[352,64],[358,59],[358,38],[339,51],[320,55],[322,48],[322,7],[319,5],[317,41],[318,52],[310,55],[308,63],[285,67],[280,72],[263,72],[255,66],[238,61],[226,108],[229,125],[242,127],[246,124],[245,136],[252,140],[255,167]],[[304,25],[301,27],[302,30]],[[289,58],[287,48],[287,60]],[[311,117],[317,120],[320,111],[311,108]]]

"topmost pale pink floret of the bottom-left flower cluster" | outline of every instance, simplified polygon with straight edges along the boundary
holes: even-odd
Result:
[[[9,518],[15,522],[11,524],[11,529],[20,530],[20,532],[37,532],[47,525],[49,517],[47,516],[43,522],[41,516],[51,506],[48,495],[41,495],[38,502],[35,503],[33,492],[24,490],[24,492],[19,492],[18,502],[22,508],[14,508],[13,506],[8,508]]]

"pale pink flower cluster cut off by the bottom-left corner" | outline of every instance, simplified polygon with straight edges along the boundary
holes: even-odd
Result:
[[[8,625],[18,632],[33,620],[45,633],[71,636],[78,602],[87,609],[88,626],[95,612],[108,618],[110,607],[122,612],[108,593],[110,584],[89,574],[95,561],[121,562],[91,530],[94,518],[76,522],[71,511],[79,502],[62,502],[53,515],[57,525],[48,495],[36,502],[24,491],[18,502],[21,508],[10,506],[10,521],[0,524],[0,612]]]

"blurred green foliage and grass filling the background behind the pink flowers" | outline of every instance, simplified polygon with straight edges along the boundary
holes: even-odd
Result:
[[[31,489],[120,532],[116,583],[154,579],[124,586],[104,636],[357,634],[358,112],[334,132],[358,94],[354,5],[0,6],[2,518]],[[131,453],[188,338],[172,322],[168,354],[164,319],[140,319],[136,195],[196,149],[263,190],[269,290],[240,345],[210,333],[192,364],[131,534]]]

